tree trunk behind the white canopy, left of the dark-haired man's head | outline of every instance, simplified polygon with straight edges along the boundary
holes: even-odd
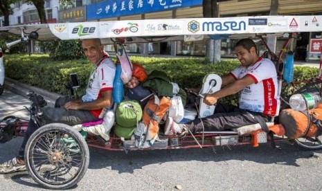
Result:
[[[202,11],[206,18],[218,17],[217,0],[203,0]],[[211,63],[220,62],[221,40],[210,39],[206,44],[206,59]]]

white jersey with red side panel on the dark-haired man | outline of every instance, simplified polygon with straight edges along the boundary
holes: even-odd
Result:
[[[233,78],[249,75],[255,81],[240,93],[239,107],[260,112],[266,116],[276,116],[280,109],[278,80],[275,66],[271,60],[260,57],[253,66],[239,66],[231,72]]]

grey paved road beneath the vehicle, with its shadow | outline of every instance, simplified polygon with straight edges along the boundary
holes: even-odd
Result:
[[[0,116],[26,103],[5,91]],[[1,163],[17,153],[21,140],[0,145]],[[129,154],[90,149],[89,169],[72,190],[177,190],[176,185],[182,190],[322,190],[322,152],[301,151],[287,141],[278,145],[281,149],[265,144]],[[44,190],[27,172],[0,175],[0,182],[0,190]]]

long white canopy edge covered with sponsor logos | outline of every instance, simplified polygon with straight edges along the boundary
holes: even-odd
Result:
[[[298,33],[322,31],[322,15],[94,21],[49,26],[60,39]],[[312,43],[313,51],[318,43],[321,39]]]

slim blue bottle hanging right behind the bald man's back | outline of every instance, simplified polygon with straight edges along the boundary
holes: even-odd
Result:
[[[116,64],[116,71],[113,81],[113,101],[119,104],[123,100],[124,95],[124,87],[123,82],[120,79],[120,73],[122,72],[122,68],[120,67],[120,64]]]

